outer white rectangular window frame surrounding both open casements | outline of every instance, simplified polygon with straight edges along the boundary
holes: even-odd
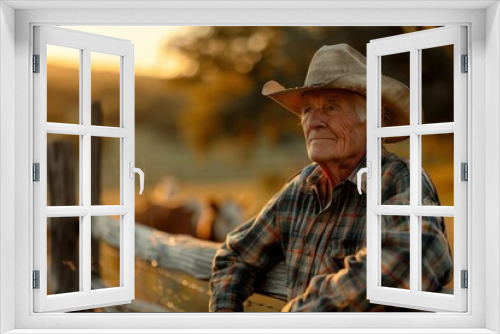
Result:
[[[144,329],[163,332],[234,332],[234,328],[349,329],[359,332],[457,332],[500,331],[500,10],[497,1],[367,2],[349,1],[238,1],[121,2],[133,9],[103,10],[116,6],[107,1],[17,2],[0,4],[0,331],[36,333],[36,329]],[[61,6],[69,8],[61,9]],[[137,8],[149,10],[138,11]],[[392,9],[392,6],[397,8]],[[12,7],[19,10],[14,10]],[[157,7],[163,7],[158,9]],[[357,7],[357,8],[356,8]],[[22,8],[25,8],[24,10]],[[43,9],[45,8],[45,9]],[[80,9],[74,9],[80,8]],[[87,8],[82,10],[81,8]],[[151,9],[154,8],[154,9]],[[367,9],[370,8],[370,9]],[[373,9],[375,8],[375,9]],[[402,9],[401,9],[402,8]],[[243,10],[245,9],[245,10]],[[411,9],[411,10],[410,10]],[[485,25],[486,22],[486,25]],[[470,187],[468,245],[469,311],[436,314],[34,314],[31,290],[32,260],[32,83],[29,74],[34,24],[61,25],[445,25],[469,27],[470,96],[468,115]],[[4,29],[6,28],[6,29]],[[15,34],[15,35],[14,35]],[[14,38],[15,36],[15,38]],[[488,68],[486,71],[485,68]],[[15,68],[15,70],[14,70]],[[15,82],[15,88],[12,86]],[[14,96],[15,93],[15,98]],[[12,130],[14,129],[14,130]],[[15,139],[15,145],[12,141]],[[488,152],[487,154],[485,152]],[[15,174],[14,174],[15,171]],[[485,182],[488,174],[488,182]],[[15,178],[12,178],[15,175]],[[15,193],[14,200],[11,198]],[[12,207],[14,209],[12,209]],[[487,219],[486,219],[487,218]],[[13,224],[12,222],[15,222]],[[484,254],[492,260],[486,267]],[[14,254],[14,256],[13,256]],[[27,261],[26,259],[30,259]],[[12,287],[15,287],[12,289]],[[486,293],[486,291],[488,293]],[[14,305],[14,307],[12,307]],[[132,328],[143,326],[142,330]],[[233,328],[233,330],[231,330]],[[26,330],[24,330],[26,329]],[[28,330],[29,329],[29,330]],[[198,331],[196,331],[198,329]],[[448,329],[448,330],[446,330]],[[118,330],[119,331],[119,330]],[[320,330],[317,330],[320,331]],[[40,331],[42,332],[42,331]],[[50,332],[54,332],[51,330]],[[90,331],[89,331],[90,332]],[[301,329],[299,332],[305,332]],[[325,332],[325,331],[323,331]],[[354,332],[354,331],[352,331]],[[411,331],[414,333],[414,331]],[[14,332],[13,332],[14,333]]]

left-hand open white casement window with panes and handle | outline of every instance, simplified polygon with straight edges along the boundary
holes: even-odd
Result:
[[[48,66],[48,58],[57,58],[58,52],[73,53],[79,68],[58,81],[74,88],[62,107],[50,98],[54,84],[50,76],[63,67],[57,62]],[[99,121],[102,117],[91,107],[91,82],[98,84],[91,60],[103,54],[114,59],[120,73],[115,76],[119,77],[115,103],[119,117],[113,124]],[[34,310],[66,312],[130,303],[134,299],[133,173],[138,172],[134,168],[134,46],[126,40],[39,26],[34,28],[33,60],[33,167],[38,181],[34,182]],[[51,108],[59,108],[59,114]],[[103,177],[95,168],[99,154],[94,150],[100,141],[114,152],[112,164],[102,163]],[[111,181],[117,184],[115,200],[101,205],[96,188]],[[95,279],[99,264],[93,253],[99,249],[92,243],[93,227],[103,218],[114,219],[120,227],[116,275],[107,280],[114,281],[108,285],[96,284],[102,282]]]

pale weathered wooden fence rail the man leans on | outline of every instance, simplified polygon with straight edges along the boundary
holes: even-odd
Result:
[[[120,242],[119,222],[109,217],[95,217],[99,224],[92,234],[112,246]],[[179,270],[197,279],[208,280],[211,274],[212,260],[220,243],[204,241],[186,235],[174,235],[158,231],[139,223],[135,225],[135,255],[154,261],[158,267]],[[256,288],[256,292],[286,299],[286,269],[284,263],[278,263],[270,269]]]

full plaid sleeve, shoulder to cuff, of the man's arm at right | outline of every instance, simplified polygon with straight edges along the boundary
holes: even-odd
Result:
[[[383,203],[409,204],[409,173],[390,168],[382,177]],[[439,200],[430,179],[423,174],[427,204]],[[405,216],[382,217],[382,285],[409,289],[410,222]],[[441,217],[422,218],[422,288],[439,291],[451,279],[452,260]],[[344,259],[344,268],[335,274],[312,278],[306,291],[291,300],[282,311],[384,311],[382,305],[366,299],[366,247]]]

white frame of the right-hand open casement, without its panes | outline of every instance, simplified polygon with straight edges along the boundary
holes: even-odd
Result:
[[[465,26],[448,26],[370,41],[367,46],[367,155],[371,177],[367,180],[367,299],[372,303],[405,306],[426,311],[467,310],[467,290],[461,287],[461,270],[467,269],[467,185],[461,181],[460,164],[467,163],[467,76],[462,73],[461,57],[467,54]],[[453,45],[453,115],[452,122],[422,124],[422,50]],[[410,123],[383,127],[382,62],[383,57],[398,53],[409,54],[410,64]],[[454,205],[422,205],[422,140],[421,135],[453,134]],[[408,205],[382,203],[381,170],[382,139],[408,136],[410,141],[410,202]],[[389,148],[390,149],[390,148]],[[381,221],[383,215],[407,216],[410,226],[409,289],[381,285]],[[425,216],[454,217],[452,294],[422,291],[422,219]],[[449,233],[449,232],[448,232]]]

